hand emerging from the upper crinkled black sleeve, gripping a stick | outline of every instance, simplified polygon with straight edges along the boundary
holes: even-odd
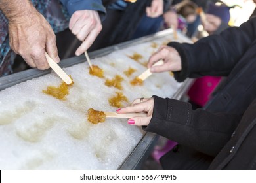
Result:
[[[154,65],[160,59],[163,59],[163,65]],[[150,56],[148,61],[148,68],[152,73],[162,73],[164,71],[181,71],[181,56],[170,46],[160,46],[157,52]]]

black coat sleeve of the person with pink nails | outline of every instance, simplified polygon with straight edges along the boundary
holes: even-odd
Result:
[[[236,114],[213,114],[192,110],[190,103],[154,97],[154,110],[145,131],[216,156],[228,142],[240,118]]]

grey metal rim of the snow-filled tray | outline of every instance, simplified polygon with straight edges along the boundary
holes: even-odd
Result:
[[[123,42],[121,44],[116,44],[114,46],[109,46],[107,48],[90,52],[89,56],[90,58],[93,59],[95,57],[105,56],[107,54],[110,54],[111,52],[114,52],[115,50],[127,48],[135,44],[154,41],[154,39],[158,39],[161,37],[171,37],[171,36],[173,36],[172,29],[167,29],[164,31],[160,31],[154,35],[141,37],[139,39]],[[190,39],[188,39],[184,35],[179,34],[179,37],[184,42],[191,42]],[[75,65],[77,63],[82,63],[84,61],[86,61],[86,59],[85,59],[85,56],[82,55],[79,57],[64,59],[59,63],[59,65],[60,67],[70,67],[72,65]],[[21,71],[19,73],[14,73],[12,75],[0,77],[0,90],[4,90],[5,88],[9,88],[11,86],[14,86],[15,84],[24,82],[26,80],[30,80],[32,78],[37,78],[37,77],[46,75],[50,72],[51,72],[51,69],[47,69],[45,71],[40,71],[38,69],[28,69],[26,71]],[[188,90],[191,84],[192,84],[192,80],[190,79],[185,80],[182,86],[175,92],[175,94],[170,97],[173,99],[181,99],[182,95],[184,95],[184,93]],[[144,161],[144,159],[146,159],[149,156],[157,139],[158,139],[158,135],[154,133],[146,133],[144,137],[142,137],[142,139],[140,140],[139,144],[137,144],[133,152],[131,152],[131,154],[119,166],[119,169],[140,169],[141,163]]]

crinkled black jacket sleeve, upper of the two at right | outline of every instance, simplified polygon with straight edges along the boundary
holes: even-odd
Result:
[[[169,42],[182,60],[182,71],[174,72],[175,79],[200,76],[227,76],[234,65],[256,39],[256,18],[240,27],[230,27],[220,35],[210,35],[194,44]]]

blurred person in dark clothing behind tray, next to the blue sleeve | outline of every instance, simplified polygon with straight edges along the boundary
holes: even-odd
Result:
[[[106,20],[102,22],[102,31],[89,51],[98,50],[107,46],[112,46],[120,42],[147,35],[156,31],[158,16],[163,13],[163,7],[169,4],[170,0],[137,0],[130,1],[117,0],[106,6]],[[143,17],[150,16],[148,24],[144,24]],[[140,24],[143,24],[142,26]],[[140,29],[141,28],[141,29]]]

